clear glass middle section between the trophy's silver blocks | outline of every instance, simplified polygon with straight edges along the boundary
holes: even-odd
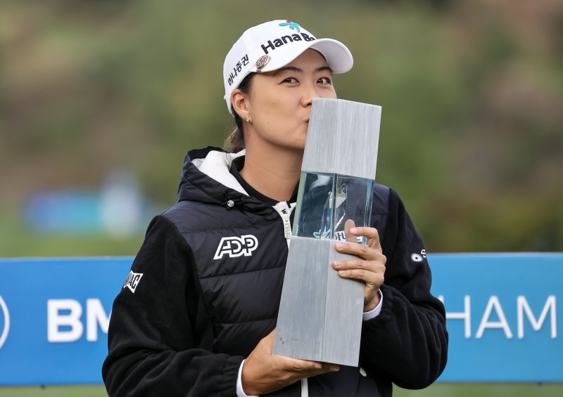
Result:
[[[348,235],[354,226],[369,226],[372,214],[373,181],[365,178],[302,172],[293,235],[360,242],[364,237]]]

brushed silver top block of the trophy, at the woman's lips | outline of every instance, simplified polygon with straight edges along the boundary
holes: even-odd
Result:
[[[313,100],[301,169],[374,179],[380,124],[381,106]]]

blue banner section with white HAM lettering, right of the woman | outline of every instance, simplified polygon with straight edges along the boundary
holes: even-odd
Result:
[[[441,381],[563,382],[563,254],[434,254],[429,261],[450,334]]]

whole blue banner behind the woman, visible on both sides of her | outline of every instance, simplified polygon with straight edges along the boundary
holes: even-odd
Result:
[[[428,257],[450,332],[441,382],[563,382],[563,254]],[[0,260],[0,385],[101,383],[131,263]]]

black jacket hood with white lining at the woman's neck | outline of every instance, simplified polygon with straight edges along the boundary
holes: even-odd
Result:
[[[189,150],[184,159],[177,201],[191,200],[227,206],[227,202],[232,200],[236,206],[243,205],[254,211],[271,209],[249,196],[229,171],[233,160],[245,154],[245,150],[229,153],[213,146]]]

